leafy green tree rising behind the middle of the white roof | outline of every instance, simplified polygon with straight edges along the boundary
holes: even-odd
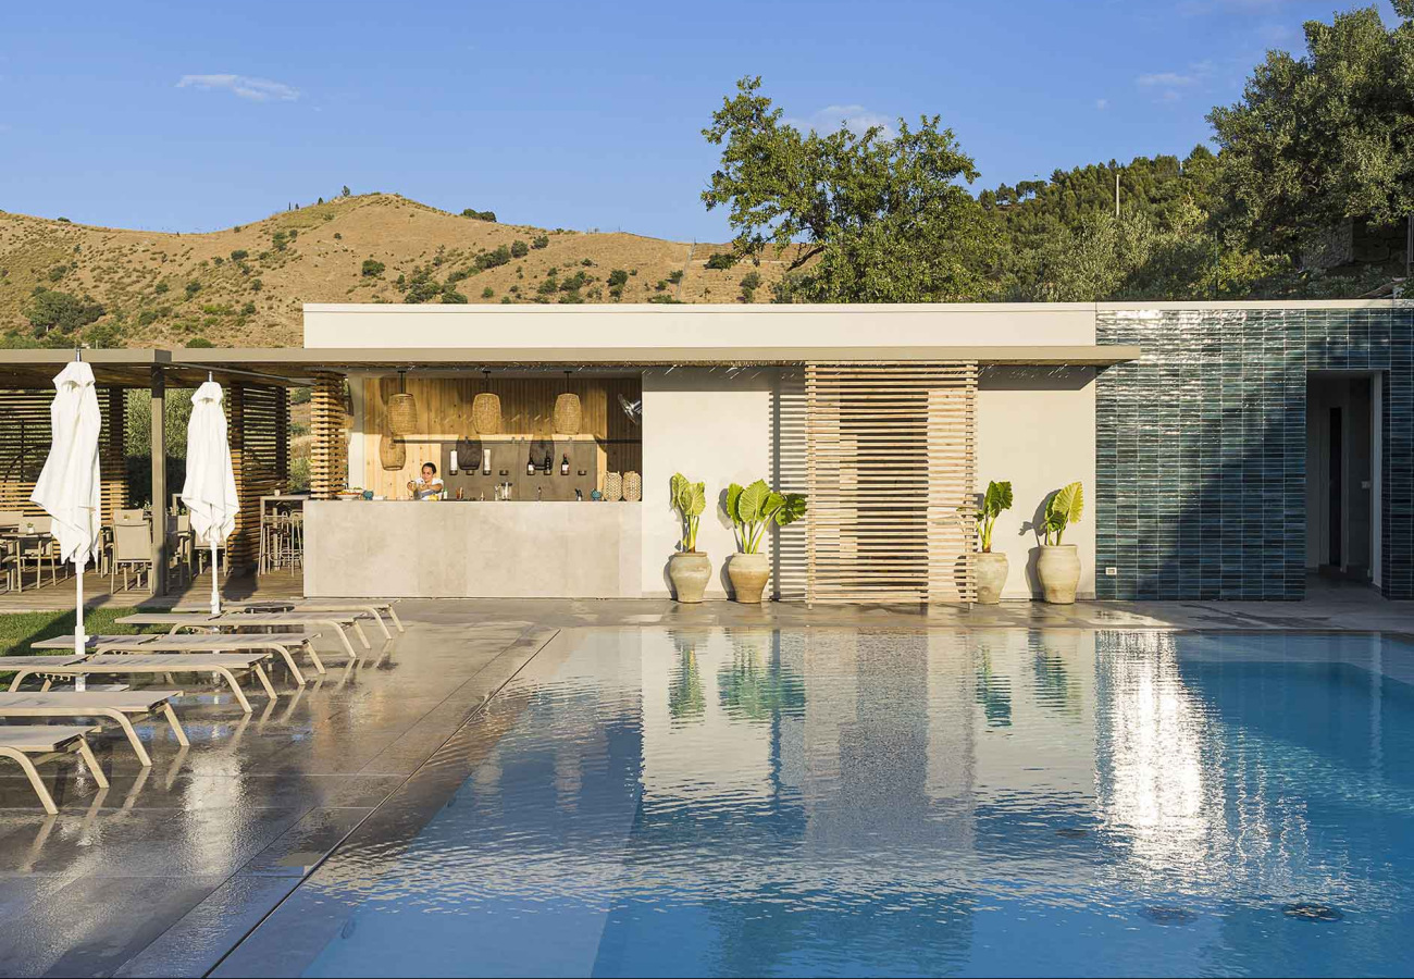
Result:
[[[738,259],[769,246],[792,252],[779,294],[813,303],[915,303],[986,299],[995,225],[967,192],[971,157],[937,116],[898,133],[880,126],[802,133],[737,82],[703,136],[721,167],[703,202],[730,208]]]

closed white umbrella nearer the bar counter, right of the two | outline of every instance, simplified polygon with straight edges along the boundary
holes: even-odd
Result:
[[[221,613],[216,587],[216,546],[236,529],[236,473],[230,468],[230,440],[226,415],[221,410],[223,393],[215,381],[206,381],[191,396],[191,422],[187,424],[187,485],[181,498],[191,512],[191,529],[198,540],[211,545],[211,614]]]

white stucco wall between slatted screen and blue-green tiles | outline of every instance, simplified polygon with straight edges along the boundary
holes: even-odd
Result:
[[[1041,505],[1080,480],[1085,516],[1065,533],[1079,545],[1082,598],[1094,597],[1094,369],[988,368],[977,392],[977,490],[1011,480],[1014,504],[997,521],[993,550],[1011,564],[1003,598],[1039,597],[1035,577]]]

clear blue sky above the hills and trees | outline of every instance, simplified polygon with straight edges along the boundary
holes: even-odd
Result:
[[[940,113],[995,185],[1186,153],[1267,48],[1348,6],[13,0],[0,208],[209,231],[348,184],[723,241],[700,130],[742,75],[820,126]]]

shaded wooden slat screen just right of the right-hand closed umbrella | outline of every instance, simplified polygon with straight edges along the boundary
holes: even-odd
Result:
[[[253,564],[260,549],[260,497],[283,492],[290,474],[290,409],[284,388],[232,385],[226,392],[230,465],[240,512],[226,542],[232,567]]]

